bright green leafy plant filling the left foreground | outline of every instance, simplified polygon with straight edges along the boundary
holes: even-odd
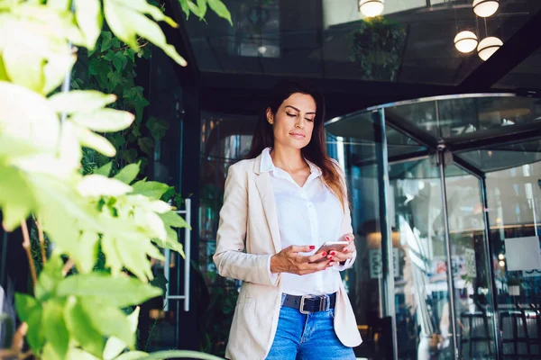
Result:
[[[179,2],[187,16],[192,12],[202,18],[208,4],[231,22],[219,0]],[[104,20],[110,38],[101,32]],[[185,65],[155,22],[176,26],[146,0],[0,0],[0,211],[6,230],[20,226],[23,231],[34,285],[33,295],[15,296],[23,323],[13,346],[0,357],[213,358],[134,350],[139,310],[133,307],[162,293],[149,284],[151,258],[162,258],[160,247],[182,253],[173,228],[188,224],[161,200],[170,186],[135,181],[140,163],[115,171],[113,177],[111,162],[81,168],[84,157],[115,157],[117,149],[109,139],[118,138],[104,134],[128,129],[138,116],[111,107],[120,94],[77,89],[55,94],[78,59],[71,45],[96,51],[100,34],[99,51],[110,49],[107,41],[118,50],[104,56],[116,69],[127,67],[126,58],[140,53],[141,39]],[[121,49],[126,58],[117,56]],[[96,67],[95,75],[103,80],[100,88],[115,93],[115,73]],[[137,94],[127,98],[135,112],[144,104]],[[90,170],[93,174],[87,174]],[[41,247],[33,254],[27,227],[31,214]],[[49,258],[46,237],[54,248]],[[98,249],[105,256],[105,271],[96,270],[102,261]],[[39,275],[36,257],[41,258]]]

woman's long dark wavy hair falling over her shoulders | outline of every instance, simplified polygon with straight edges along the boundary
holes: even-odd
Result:
[[[301,149],[302,156],[321,169],[323,181],[340,200],[342,207],[345,208],[347,199],[344,180],[339,174],[335,162],[326,152],[325,130],[323,127],[325,100],[323,94],[315,86],[298,81],[284,80],[272,88],[271,94],[261,110],[261,116],[253,133],[252,148],[246,158],[258,157],[264,148],[274,147],[274,131],[272,125],[267,121],[267,109],[270,108],[272,114],[276,115],[280,105],[289,96],[297,93],[310,95],[316,102],[316,117],[314,118],[312,139],[305,148]]]

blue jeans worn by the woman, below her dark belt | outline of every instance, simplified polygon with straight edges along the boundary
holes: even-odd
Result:
[[[282,306],[267,360],[354,360],[335,334],[335,310],[301,314]]]

